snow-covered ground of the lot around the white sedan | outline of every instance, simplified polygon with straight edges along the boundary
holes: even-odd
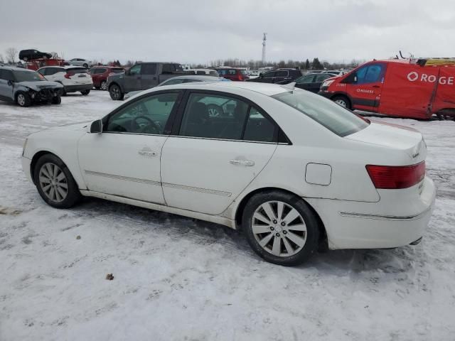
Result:
[[[23,139],[118,104],[95,91],[0,102],[0,340],[455,340],[454,121],[383,119],[427,141],[439,191],[421,244],[285,268],[208,222],[95,199],[45,205],[21,171]]]

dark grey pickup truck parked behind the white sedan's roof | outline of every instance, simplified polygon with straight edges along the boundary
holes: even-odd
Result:
[[[124,73],[107,77],[107,89],[114,101],[121,101],[128,92],[156,87],[176,75],[185,75],[178,63],[137,63]]]

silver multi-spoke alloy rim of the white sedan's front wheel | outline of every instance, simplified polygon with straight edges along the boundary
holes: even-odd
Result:
[[[38,182],[45,196],[53,202],[62,202],[68,195],[66,175],[54,163],[48,162],[41,166]]]

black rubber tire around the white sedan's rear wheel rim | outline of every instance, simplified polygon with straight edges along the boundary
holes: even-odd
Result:
[[[252,228],[253,215],[257,210],[260,210],[262,204],[266,204],[267,202],[284,203],[282,217],[278,217],[277,221],[272,222],[272,224],[275,225],[274,227],[267,224],[262,225],[261,227],[267,229],[267,232],[264,232],[262,234],[255,234]],[[284,220],[287,217],[287,213],[291,212],[292,209],[296,210],[299,213],[300,217],[297,217],[296,220],[292,220],[291,222],[287,222],[289,224],[288,229],[288,225],[286,222],[284,222]],[[277,211],[274,211],[274,214],[277,216]],[[293,227],[296,227],[296,225],[301,226],[301,222],[299,224],[299,221],[301,220],[304,222],[306,232],[297,232],[293,229]],[[257,222],[257,220],[255,220],[255,222]],[[286,227],[281,227],[280,222],[286,224]],[[292,224],[293,222],[294,224]],[[282,266],[295,266],[303,263],[316,252],[319,246],[319,222],[312,212],[311,208],[300,197],[278,190],[258,193],[257,195],[254,195],[250,198],[250,200],[247,202],[247,205],[245,206],[245,210],[243,211],[242,230],[247,237],[247,241],[250,244],[250,247],[259,256],[261,256],[262,259],[265,259],[270,263],[279,264]],[[270,234],[272,234],[272,239],[268,239],[269,242],[264,245],[264,247],[262,247],[259,244],[259,240],[257,240],[257,238],[263,238],[261,241],[264,241],[267,239],[267,237],[270,236]],[[299,234],[301,237],[300,240],[306,238],[301,247],[299,247],[298,244],[294,244],[294,242],[289,239],[289,237],[292,237],[294,239],[296,234]],[[269,244],[273,244],[275,238],[277,238],[279,242],[279,253],[282,253],[282,255],[279,256],[272,254],[272,250],[269,249],[271,247]],[[287,246],[290,246],[292,252],[295,251],[295,254],[286,256],[288,253]]]

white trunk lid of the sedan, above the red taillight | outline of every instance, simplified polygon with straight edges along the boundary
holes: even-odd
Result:
[[[422,134],[407,126],[371,121],[370,126],[345,139],[402,150],[410,156],[410,164],[422,162],[427,157]]]

